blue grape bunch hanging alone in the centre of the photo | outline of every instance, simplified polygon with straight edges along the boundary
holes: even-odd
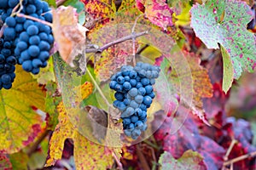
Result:
[[[113,106],[121,111],[125,135],[137,139],[147,129],[147,110],[154,99],[153,85],[160,67],[138,62],[124,65],[111,77],[109,87],[116,91]]]

